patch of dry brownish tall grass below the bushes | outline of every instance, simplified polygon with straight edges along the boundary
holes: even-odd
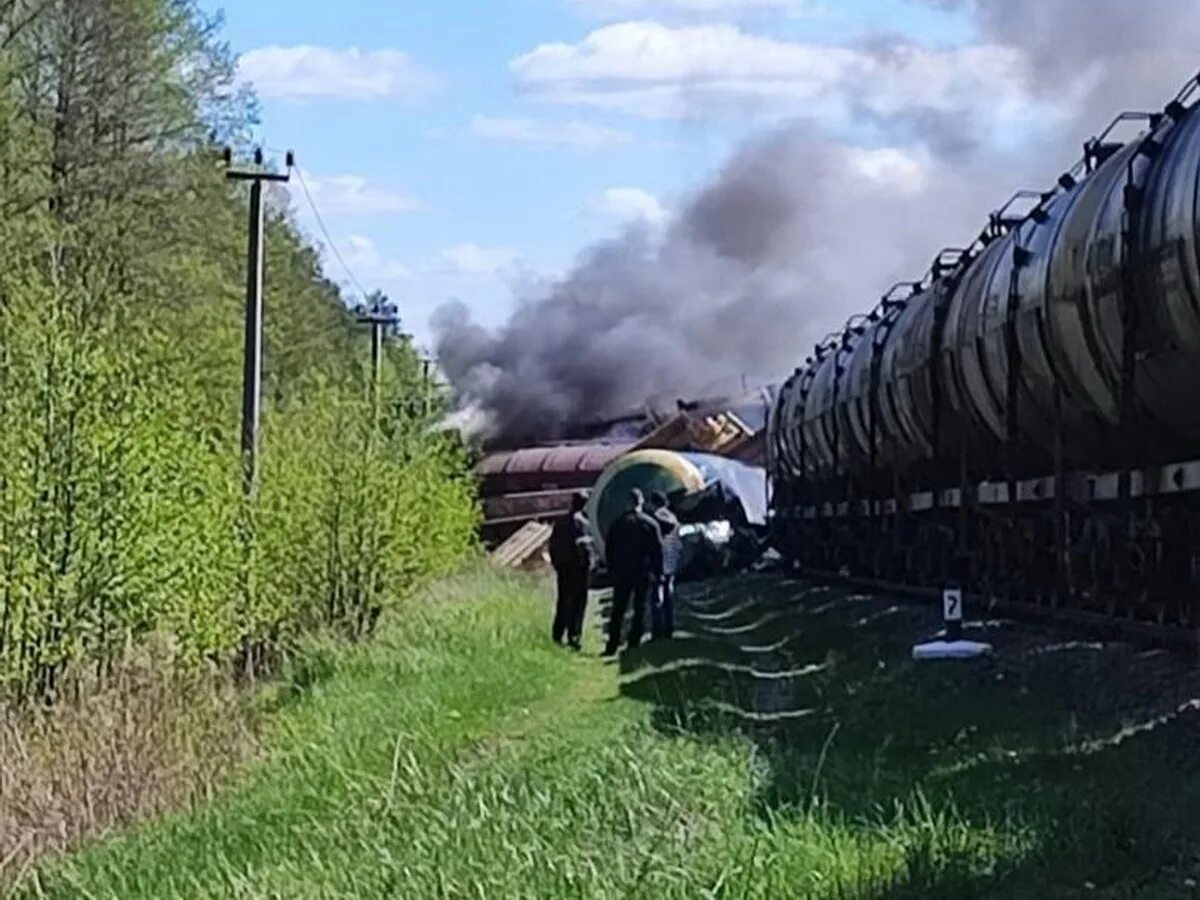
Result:
[[[252,755],[250,698],[227,673],[172,656],[149,641],[102,684],[71,671],[56,707],[0,719],[0,882],[112,828],[211,800]]]

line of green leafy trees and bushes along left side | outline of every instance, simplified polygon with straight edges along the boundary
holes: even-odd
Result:
[[[268,664],[367,635],[476,510],[439,398],[367,342],[284,194],[266,222],[260,480],[239,451],[253,95],[194,0],[0,0],[0,698],[151,635]],[[414,398],[419,402],[414,402]]]

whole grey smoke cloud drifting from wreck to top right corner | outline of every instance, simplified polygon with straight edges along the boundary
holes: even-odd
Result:
[[[980,109],[965,98],[887,118],[863,104],[851,127],[878,136],[871,149],[812,121],[751,139],[664,229],[586,250],[562,280],[518,296],[504,328],[480,326],[461,304],[439,310],[454,424],[506,444],[553,439],[652,392],[786,374],[847,314],[973,236],[1014,190],[1050,184],[1114,103],[1158,102],[1200,43],[1200,10],[1175,0],[1092,0],[1082,17],[1074,0],[925,1],[970,12],[978,40],[1026,60],[1020,133],[980,138]],[[883,40],[864,49],[892,52]]]

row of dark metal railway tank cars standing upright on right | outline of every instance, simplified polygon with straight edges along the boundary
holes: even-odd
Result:
[[[1198,97],[1122,114],[814,349],[768,422],[781,553],[1200,626]]]

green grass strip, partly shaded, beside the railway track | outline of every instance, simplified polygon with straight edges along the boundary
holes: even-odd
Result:
[[[17,895],[1194,895],[1178,728],[1117,742],[1054,685],[914,666],[911,613],[836,592],[694,590],[684,634],[619,665],[594,632],[550,646],[547,598],[476,576],[371,646],[310,648],[222,799]]]

